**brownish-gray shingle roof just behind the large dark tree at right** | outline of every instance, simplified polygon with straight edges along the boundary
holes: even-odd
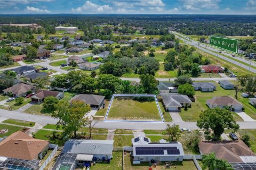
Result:
[[[212,99],[208,99],[207,103],[210,103],[211,105],[243,106],[233,97],[229,96],[213,97]]]

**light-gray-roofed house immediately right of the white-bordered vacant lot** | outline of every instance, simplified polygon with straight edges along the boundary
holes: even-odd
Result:
[[[162,96],[163,105],[166,111],[181,111],[181,107],[191,106],[192,101],[186,95],[167,95]]]

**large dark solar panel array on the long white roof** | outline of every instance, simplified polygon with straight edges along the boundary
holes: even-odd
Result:
[[[167,150],[168,155],[179,155],[180,150],[177,147],[137,147],[135,148],[136,155],[164,155],[164,150]]]

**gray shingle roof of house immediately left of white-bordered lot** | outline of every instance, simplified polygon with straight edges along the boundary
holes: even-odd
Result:
[[[99,105],[101,104],[102,100],[104,100],[104,98],[105,96],[81,94],[81,95],[74,96],[73,98],[70,99],[70,101],[81,100],[81,101],[84,101],[84,103],[86,104]]]

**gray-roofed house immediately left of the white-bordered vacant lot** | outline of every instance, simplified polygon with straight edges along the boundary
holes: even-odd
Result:
[[[90,95],[90,94],[80,94],[71,98],[69,101],[79,100],[83,101],[85,104],[90,105],[92,108],[100,108],[102,105],[104,106],[105,96],[99,95]]]

